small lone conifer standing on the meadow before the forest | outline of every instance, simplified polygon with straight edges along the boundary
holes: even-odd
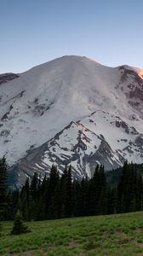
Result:
[[[14,227],[11,230],[10,234],[11,235],[20,235],[20,234],[27,233],[27,232],[30,232],[30,230],[28,230],[26,225],[23,224],[20,211],[18,210],[18,212],[16,213],[15,218],[14,218]]]

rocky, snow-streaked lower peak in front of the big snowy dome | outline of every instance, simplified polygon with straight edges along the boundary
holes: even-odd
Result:
[[[114,136],[113,136],[114,135]],[[71,122],[49,142],[31,150],[20,160],[17,170],[31,176],[49,172],[54,163],[62,173],[72,163],[74,177],[91,177],[97,164],[106,170],[122,166],[125,160],[142,163],[143,135],[113,114],[96,111]]]

